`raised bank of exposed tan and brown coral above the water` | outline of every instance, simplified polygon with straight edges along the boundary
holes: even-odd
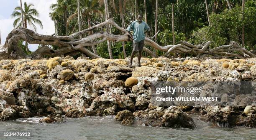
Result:
[[[222,106],[154,106],[152,81],[254,81],[256,59],[142,58],[129,68],[127,59],[51,59],[0,61],[0,120],[48,116],[42,123],[69,118],[116,115],[132,125],[196,129],[191,114],[220,127],[256,127],[256,85],[246,95],[223,94]],[[205,91],[210,91],[210,86]],[[205,93],[205,96],[209,93]],[[211,93],[210,93],[211,94]],[[246,104],[246,105],[245,105]]]

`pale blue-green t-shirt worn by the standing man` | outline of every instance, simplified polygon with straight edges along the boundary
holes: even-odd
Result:
[[[129,25],[126,29],[127,31],[133,30],[133,39],[136,42],[140,42],[141,40],[145,39],[145,33],[144,31],[148,30],[150,31],[149,26],[146,24],[146,22],[138,23],[137,21],[134,21]]]

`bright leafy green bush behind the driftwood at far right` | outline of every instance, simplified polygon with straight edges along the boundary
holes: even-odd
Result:
[[[220,14],[210,15],[210,26],[202,27],[194,31],[190,42],[201,44],[212,41],[212,47],[229,44],[231,40],[242,44],[242,25],[245,25],[245,45],[253,47],[256,44],[256,4],[253,0],[246,1],[246,8],[242,20],[241,6],[236,6],[232,10],[224,10]]]

